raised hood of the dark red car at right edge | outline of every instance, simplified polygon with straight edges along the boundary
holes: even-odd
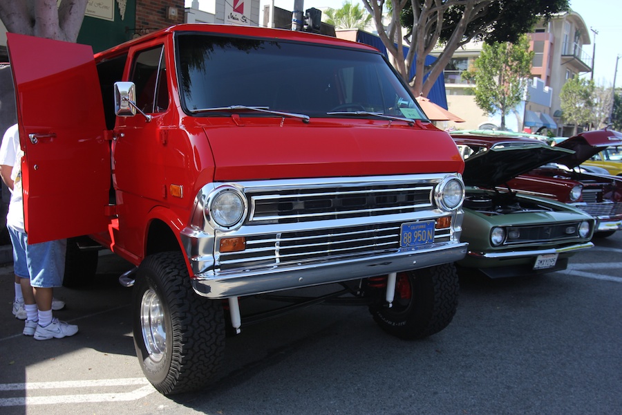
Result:
[[[557,163],[561,163],[572,169],[572,167],[580,165],[599,151],[616,145],[622,145],[622,133],[618,131],[585,131],[555,145],[555,147],[574,151],[574,154],[568,154],[560,158],[557,160]]]

